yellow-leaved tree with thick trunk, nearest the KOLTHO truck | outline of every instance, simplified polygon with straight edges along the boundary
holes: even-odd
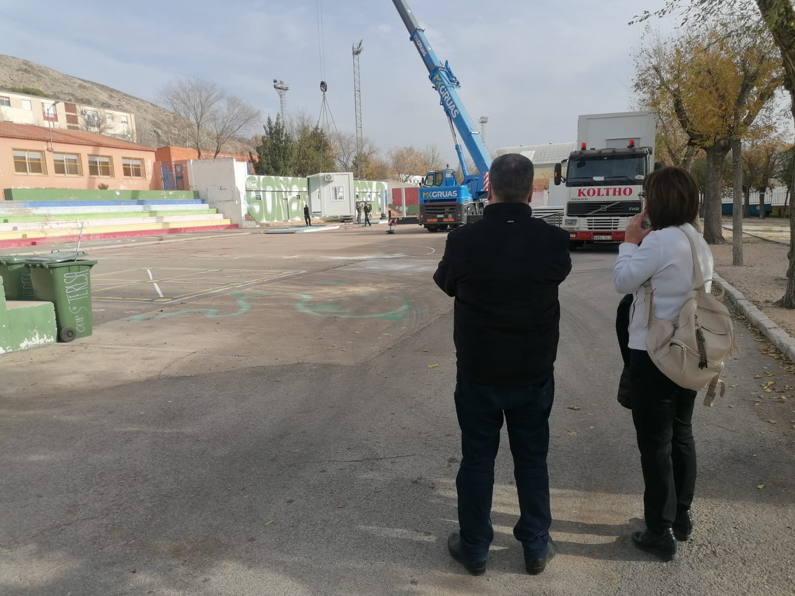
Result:
[[[706,33],[688,31],[661,40],[647,28],[646,43],[635,56],[635,91],[663,116],[674,114],[687,145],[706,154],[704,239],[710,244],[725,242],[723,161],[732,145],[752,134],[758,114],[781,85],[781,63],[770,35],[748,29],[730,37],[729,29],[731,23],[715,23]]]

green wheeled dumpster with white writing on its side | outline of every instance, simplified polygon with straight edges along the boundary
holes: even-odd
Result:
[[[34,299],[55,304],[58,337],[62,342],[88,337],[93,330],[91,267],[97,261],[80,259],[85,255],[55,252],[25,261],[33,281]]]

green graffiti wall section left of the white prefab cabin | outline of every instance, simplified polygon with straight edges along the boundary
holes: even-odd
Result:
[[[286,222],[304,219],[304,205],[309,200],[306,178],[291,176],[246,177],[246,219],[262,222]]]

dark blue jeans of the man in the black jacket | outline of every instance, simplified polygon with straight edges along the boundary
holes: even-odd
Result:
[[[540,559],[546,554],[552,524],[546,459],[554,394],[553,377],[539,385],[510,388],[475,385],[457,377],[462,458],[456,488],[461,549],[467,559],[487,559],[494,540],[491,495],[503,416],[508,424],[521,512],[514,536],[522,543],[526,557]]]

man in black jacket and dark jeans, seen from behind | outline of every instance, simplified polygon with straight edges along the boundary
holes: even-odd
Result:
[[[433,276],[456,299],[456,413],[462,459],[456,487],[460,531],[448,550],[480,575],[494,530],[491,495],[503,416],[521,516],[514,536],[537,575],[555,555],[549,537],[549,412],[560,323],[558,285],[572,269],[568,233],[532,217],[533,163],[494,160],[481,221],[448,234]]]

